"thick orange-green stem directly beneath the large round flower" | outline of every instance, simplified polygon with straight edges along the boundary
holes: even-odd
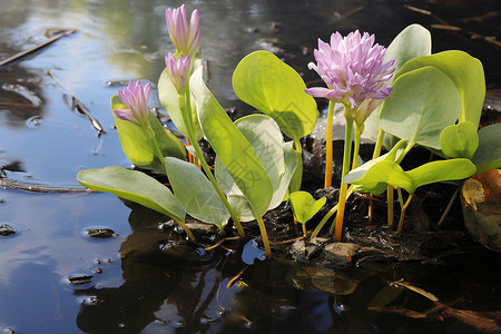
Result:
[[[346,107],[345,107],[346,108]],[[340,202],[337,203],[337,215],[335,219],[335,232],[334,239],[341,242],[341,236],[343,234],[343,219],[344,219],[344,208],[346,206],[346,191],[347,184],[343,183],[343,177],[350,171],[350,158],[352,151],[352,137],[353,137],[353,118],[346,118],[346,126],[344,130],[344,155],[343,155],[343,171],[341,175],[341,191]],[[332,227],[331,227],[332,229]]]

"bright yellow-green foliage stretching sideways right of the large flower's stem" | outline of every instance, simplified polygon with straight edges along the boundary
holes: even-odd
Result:
[[[395,161],[382,160],[369,168],[362,177],[356,178],[356,175],[348,174],[343,178],[343,181],[363,185],[364,189],[374,195],[381,195],[384,191],[383,185],[392,185],[414,194],[415,189],[421,186],[464,179],[475,171],[477,167],[464,158],[432,161],[409,171],[404,171]]]

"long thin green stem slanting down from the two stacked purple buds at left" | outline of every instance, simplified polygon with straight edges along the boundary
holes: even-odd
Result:
[[[186,131],[188,132],[188,138],[191,141],[191,145],[195,149],[195,155],[198,158],[199,163],[202,164],[202,167],[204,168],[205,174],[207,175],[208,179],[213,184],[214,189],[216,190],[217,195],[219,196],[220,200],[223,200],[223,204],[225,205],[226,209],[228,210],[229,215],[232,216],[233,223],[235,224],[238,235],[240,237],[245,237],[244,228],[242,227],[242,224],[238,219],[238,216],[236,215],[233,207],[229,205],[228,199],[226,198],[225,194],[220,189],[219,185],[217,184],[216,179],[214,178],[213,171],[210,170],[209,166],[207,165],[207,161],[204,158],[204,154],[202,153],[200,146],[198,145],[198,141],[196,141],[195,134],[193,130],[191,125],[191,101],[190,101],[190,95],[189,89],[185,92],[185,112],[183,114],[183,120],[185,121]]]

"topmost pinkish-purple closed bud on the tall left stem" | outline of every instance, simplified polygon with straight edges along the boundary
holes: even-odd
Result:
[[[173,40],[174,47],[179,53],[193,56],[198,49],[200,40],[199,14],[195,9],[189,21],[186,17],[186,6],[183,4],[176,9],[167,9],[165,12],[167,28]]]

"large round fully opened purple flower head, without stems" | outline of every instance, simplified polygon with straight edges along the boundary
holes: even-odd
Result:
[[[327,88],[315,87],[305,91],[313,97],[350,105],[352,114],[347,116],[352,118],[363,101],[373,99],[361,110],[370,114],[372,107],[381,102],[375,100],[386,98],[393,89],[386,86],[386,81],[393,76],[395,69],[391,66],[395,61],[383,63],[385,52],[384,47],[374,45],[374,35],[364,32],[361,36],[358,30],[346,37],[333,33],[331,45],[318,39],[318,49],[314,51],[317,63],[310,62],[308,68],[322,77]]]

